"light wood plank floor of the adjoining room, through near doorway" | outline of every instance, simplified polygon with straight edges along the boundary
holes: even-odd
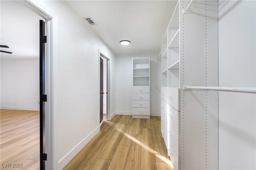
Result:
[[[39,170],[39,111],[0,110],[0,164],[22,163],[19,170]],[[15,169],[13,167],[1,169]]]

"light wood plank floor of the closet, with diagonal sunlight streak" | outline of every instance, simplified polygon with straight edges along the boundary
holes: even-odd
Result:
[[[160,132],[160,117],[116,115],[64,170],[172,170]]]

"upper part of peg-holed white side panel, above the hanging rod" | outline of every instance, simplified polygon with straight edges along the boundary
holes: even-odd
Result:
[[[191,8],[180,10],[180,87],[218,86],[218,1],[195,0]]]

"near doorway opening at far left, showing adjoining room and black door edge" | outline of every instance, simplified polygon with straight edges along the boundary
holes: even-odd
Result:
[[[42,170],[46,160],[45,19],[18,1],[2,1],[0,11],[1,168]]]

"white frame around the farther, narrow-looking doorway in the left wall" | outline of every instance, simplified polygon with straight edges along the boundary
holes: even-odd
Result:
[[[100,56],[103,57],[104,59],[107,60],[107,92],[108,92],[108,95],[107,95],[107,103],[106,103],[106,110],[107,110],[107,121],[110,121],[110,59],[108,57],[106,57],[106,55],[104,55],[104,53],[102,53],[99,49],[99,57],[98,57],[98,60],[99,60],[99,93],[100,93]],[[99,103],[100,105],[100,103]],[[100,111],[98,112],[100,113]],[[99,121],[100,122],[100,116],[98,117],[99,118]]]

